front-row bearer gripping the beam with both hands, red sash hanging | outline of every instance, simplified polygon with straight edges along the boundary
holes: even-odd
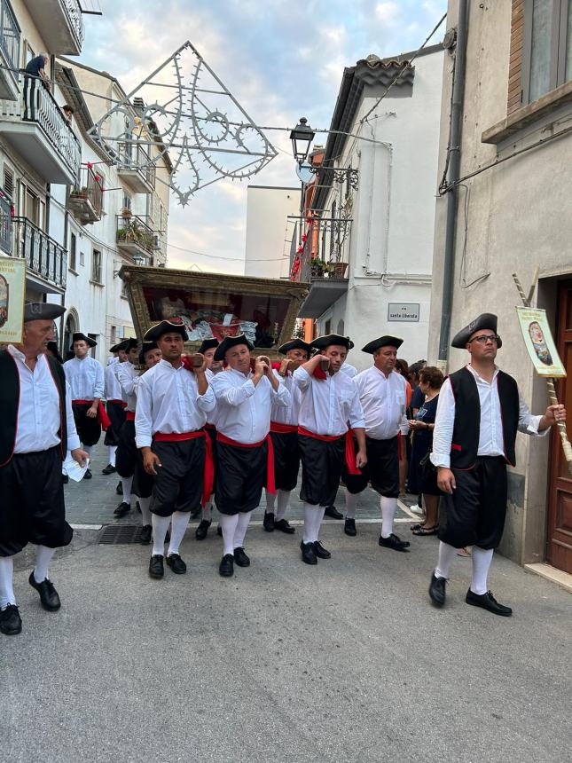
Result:
[[[228,368],[211,380],[216,396],[215,500],[223,529],[219,567],[223,578],[234,574],[234,562],[239,567],[250,564],[244,550],[248,523],[260,503],[262,485],[274,491],[270,408],[272,403],[290,405],[290,393],[272,373],[268,358],[256,358],[251,370],[251,350],[254,347],[244,334],[225,337],[215,350],[215,361],[224,360]]]

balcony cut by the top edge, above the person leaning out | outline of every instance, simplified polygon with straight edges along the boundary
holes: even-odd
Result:
[[[79,0],[24,0],[51,53],[82,52],[83,19]]]

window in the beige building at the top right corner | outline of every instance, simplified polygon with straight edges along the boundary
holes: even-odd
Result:
[[[572,0],[527,0],[522,103],[572,79]]]

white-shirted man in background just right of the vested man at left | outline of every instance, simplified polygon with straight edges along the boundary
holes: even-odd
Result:
[[[75,429],[82,442],[82,448],[91,457],[91,450],[101,437],[101,398],[105,392],[103,367],[88,355],[98,342],[81,332],[73,334],[72,350],[74,358],[64,363],[67,381],[72,389],[72,408]],[[91,479],[88,469],[83,479]]]

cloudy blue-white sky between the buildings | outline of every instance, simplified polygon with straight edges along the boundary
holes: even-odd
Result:
[[[369,53],[416,50],[446,0],[100,0],[86,16],[81,60],[129,92],[186,40],[259,125],[292,127],[301,115],[327,128],[344,67]],[[431,43],[443,37],[444,25]],[[242,272],[247,183],[294,185],[287,132],[269,131],[278,156],[248,181],[220,181],[181,208],[171,197],[168,264]],[[324,143],[317,136],[315,143]],[[281,253],[280,253],[281,254]]]

